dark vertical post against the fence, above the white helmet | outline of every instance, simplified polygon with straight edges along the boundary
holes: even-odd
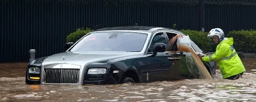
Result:
[[[200,11],[200,16],[199,16],[199,30],[204,32],[204,27],[205,27],[205,8],[204,8],[204,2],[203,0],[199,0],[199,11]]]

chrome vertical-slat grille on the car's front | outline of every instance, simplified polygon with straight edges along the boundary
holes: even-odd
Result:
[[[78,84],[79,69],[45,68],[43,84]]]

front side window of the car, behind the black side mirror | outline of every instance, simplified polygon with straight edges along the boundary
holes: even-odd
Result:
[[[163,32],[154,35],[148,52],[153,52],[155,43],[164,43],[166,45],[166,47],[169,46],[169,42],[168,42],[167,38],[164,36]]]

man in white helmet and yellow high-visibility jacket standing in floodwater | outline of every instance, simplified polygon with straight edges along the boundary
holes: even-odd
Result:
[[[207,56],[199,55],[199,58],[204,62],[217,61],[224,79],[239,79],[245,68],[233,47],[233,38],[224,38],[224,32],[219,28],[212,29],[207,36],[217,45],[216,52]]]

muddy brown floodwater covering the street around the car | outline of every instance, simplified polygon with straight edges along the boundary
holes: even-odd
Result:
[[[194,79],[119,85],[26,85],[26,63],[0,64],[3,102],[255,102],[256,59],[242,59],[241,79]]]

